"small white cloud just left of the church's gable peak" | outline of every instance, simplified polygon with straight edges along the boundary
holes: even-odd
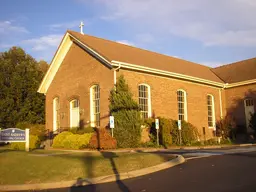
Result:
[[[23,40],[21,44],[31,46],[33,51],[42,51],[49,48],[57,48],[62,37],[63,35],[59,34],[46,35],[39,38]]]

